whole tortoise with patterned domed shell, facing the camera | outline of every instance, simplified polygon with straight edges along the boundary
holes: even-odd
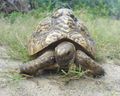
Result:
[[[40,22],[28,41],[28,53],[35,58],[20,66],[22,74],[56,68],[67,72],[71,63],[90,70],[94,77],[105,73],[95,61],[94,40],[71,9],[57,9]]]

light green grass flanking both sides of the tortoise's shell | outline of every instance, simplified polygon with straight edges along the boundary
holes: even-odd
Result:
[[[109,17],[98,17],[86,11],[75,11],[82,19],[96,41],[96,57],[120,59],[120,21]],[[33,12],[28,14],[13,13],[0,19],[0,42],[9,46],[9,55],[22,61],[29,60],[27,39],[39,21],[48,13]]]

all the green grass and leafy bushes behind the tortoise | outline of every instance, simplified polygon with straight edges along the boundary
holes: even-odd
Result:
[[[0,13],[0,42],[9,47],[8,53],[11,58],[29,60],[27,38],[43,18],[63,6],[71,8],[77,18],[85,22],[96,41],[97,60],[120,59],[120,0],[25,1],[29,5],[27,13],[19,10],[9,14]],[[0,8],[3,8],[2,3]]]

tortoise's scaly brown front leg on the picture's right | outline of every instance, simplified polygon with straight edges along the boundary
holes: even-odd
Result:
[[[105,74],[104,69],[81,50],[77,50],[76,52],[75,64],[77,67],[81,66],[82,69],[90,70],[90,74],[93,77],[100,77]]]

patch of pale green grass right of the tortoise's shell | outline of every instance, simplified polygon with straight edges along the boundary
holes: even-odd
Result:
[[[97,44],[97,58],[120,59],[120,21],[97,18],[87,25]]]

